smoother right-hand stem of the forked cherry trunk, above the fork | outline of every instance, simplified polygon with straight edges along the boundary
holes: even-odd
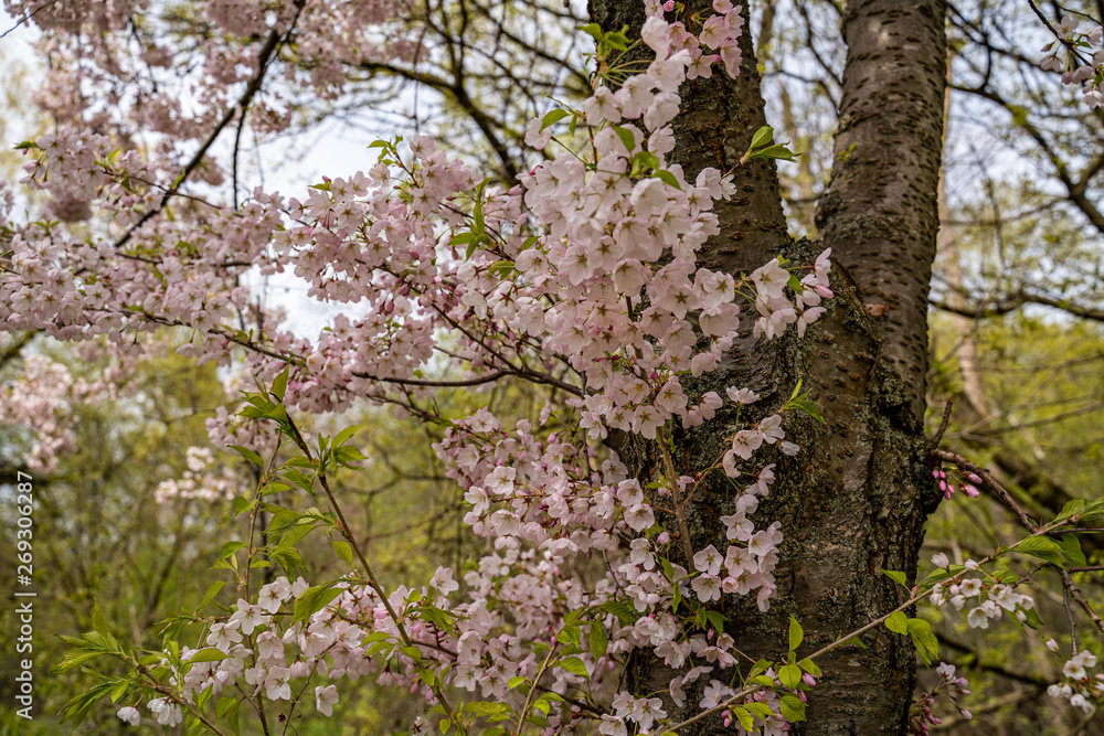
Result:
[[[852,0],[831,184],[817,207],[831,247],[880,317],[903,418],[924,413],[927,292],[946,87],[944,0]],[[854,147],[853,149],[851,147]]]

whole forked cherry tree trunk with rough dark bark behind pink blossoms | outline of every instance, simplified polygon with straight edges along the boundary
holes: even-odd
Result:
[[[691,0],[683,12],[707,7]],[[755,340],[749,319],[722,370],[696,386],[721,395],[726,386],[751,386],[762,394],[760,414],[741,416],[746,425],[781,407],[803,378],[826,419],[825,425],[806,417],[787,422],[787,435],[803,449],[795,458],[778,455],[778,480],[757,513],[761,525],[781,521],[785,534],[771,609],[761,614],[754,600],[731,596],[718,606],[730,619],[725,630],[752,659],[785,654],[790,614],[805,628],[802,657],[900,605],[906,591],[878,570],[904,570],[913,580],[924,522],[940,499],[925,467],[922,419],[926,298],[938,226],[944,9],[943,0],[849,3],[836,138],[841,156],[818,212],[821,242],[787,237],[774,167],[755,162],[736,172],[737,195],[716,209],[721,235],[700,254],[707,267],[739,274],[772,255],[811,263],[830,246],[843,266],[832,274],[837,297],[805,340],[792,333],[769,343]],[[644,20],[636,0],[592,0],[591,12],[607,30],[638,29]],[[746,7],[743,12],[746,18]],[[705,166],[733,166],[764,124],[747,35],[741,47],[737,79],[714,74],[681,90],[677,159],[689,179]],[[676,431],[676,470],[704,470],[736,426],[734,414],[725,412],[698,429]],[[658,474],[655,447],[623,437],[613,444],[638,477]],[[691,500],[696,550],[725,547],[720,518],[734,511],[733,501],[731,486],[721,479]],[[679,562],[692,568],[689,561]],[[863,641],[868,649],[843,647],[821,658],[824,678],[810,693],[808,722],[793,733],[906,732],[915,683],[912,644],[883,628]],[[666,692],[672,674],[661,661],[640,654],[629,662],[626,685],[637,695]],[[689,715],[701,694],[687,694]],[[725,730],[715,718],[684,733]]]

